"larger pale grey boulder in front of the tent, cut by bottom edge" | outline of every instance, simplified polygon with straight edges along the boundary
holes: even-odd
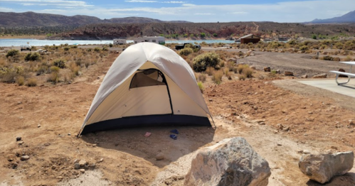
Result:
[[[227,138],[197,153],[184,185],[265,186],[270,175],[269,163],[245,138]]]

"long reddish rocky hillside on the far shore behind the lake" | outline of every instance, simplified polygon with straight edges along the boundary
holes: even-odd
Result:
[[[143,35],[164,35],[166,38],[238,38],[253,33],[262,38],[310,37],[311,35],[351,35],[355,24],[312,25],[300,23],[233,22],[233,23],[101,23],[60,33],[52,39],[135,38]]]

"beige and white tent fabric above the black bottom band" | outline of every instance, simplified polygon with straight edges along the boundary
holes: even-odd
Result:
[[[142,70],[149,69],[160,70],[166,84],[163,80],[144,79]],[[154,86],[130,89],[135,75],[147,80],[142,84],[153,83]],[[154,75],[148,72],[145,76],[152,78]],[[183,58],[163,45],[138,43],[129,46],[112,63],[92,101],[82,129],[101,121],[156,114],[211,115],[198,89],[194,72]]]

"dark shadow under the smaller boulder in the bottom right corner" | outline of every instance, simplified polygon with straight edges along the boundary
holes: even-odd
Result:
[[[346,173],[345,175],[333,177],[332,180],[321,184],[313,180],[307,182],[308,186],[354,186],[355,185],[355,173]]]

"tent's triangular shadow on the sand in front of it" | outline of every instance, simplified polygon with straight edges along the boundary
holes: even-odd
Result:
[[[172,129],[179,131],[176,140],[169,137],[173,134],[170,132]],[[144,137],[146,132],[152,135]],[[154,126],[88,133],[82,138],[88,143],[97,144],[99,148],[129,153],[163,168],[211,143],[214,133],[214,128],[206,126]],[[156,159],[159,153],[164,155],[164,160]]]

